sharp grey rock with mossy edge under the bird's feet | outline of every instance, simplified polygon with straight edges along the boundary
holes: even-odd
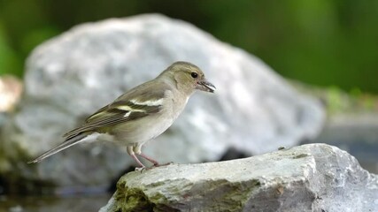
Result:
[[[378,176],[339,148],[308,144],[120,178],[105,211],[378,211]]]

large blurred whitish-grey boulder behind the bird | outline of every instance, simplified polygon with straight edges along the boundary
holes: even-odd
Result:
[[[42,163],[26,162],[60,143],[83,117],[178,60],[197,64],[218,89],[194,95],[176,123],[145,145],[143,152],[159,162],[214,161],[228,148],[261,154],[319,133],[320,103],[242,49],[161,15],[109,19],[73,27],[28,58],[25,95],[4,126],[0,173],[33,179],[38,186],[27,185],[33,189],[42,182],[73,191],[109,186],[134,164],[111,144],[82,144]]]

